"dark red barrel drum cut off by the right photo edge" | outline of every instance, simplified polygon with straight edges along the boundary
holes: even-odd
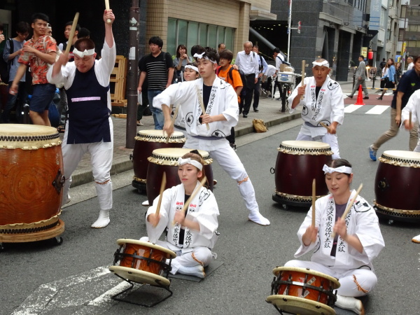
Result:
[[[397,221],[420,221],[420,153],[385,151],[374,180],[374,209]]]

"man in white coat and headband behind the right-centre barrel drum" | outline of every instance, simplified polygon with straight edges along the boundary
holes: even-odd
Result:
[[[322,141],[331,147],[333,159],[339,158],[337,126],[344,120],[344,99],[339,84],[328,76],[330,64],[325,59],[312,62],[314,76],[304,78],[288,98],[290,113],[302,104],[304,121],[297,141]],[[303,85],[303,86],[302,86]],[[302,99],[302,96],[303,99]],[[328,126],[328,130],[321,125]]]

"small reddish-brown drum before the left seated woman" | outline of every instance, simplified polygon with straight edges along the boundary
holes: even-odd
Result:
[[[123,279],[152,286],[169,286],[167,279],[171,270],[173,251],[146,241],[118,239],[120,248],[114,253],[111,272]],[[167,263],[169,259],[169,263]]]

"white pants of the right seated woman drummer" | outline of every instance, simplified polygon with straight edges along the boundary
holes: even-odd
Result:
[[[344,296],[358,297],[367,295],[373,290],[378,281],[377,276],[370,269],[336,269],[321,265],[318,262],[302,260],[290,260],[286,262],[284,267],[309,268],[328,274],[328,276],[334,276],[340,284],[337,294]]]

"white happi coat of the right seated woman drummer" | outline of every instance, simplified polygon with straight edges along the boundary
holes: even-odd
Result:
[[[352,190],[349,201],[354,195],[356,195],[356,191]],[[330,255],[333,242],[331,234],[335,225],[335,202],[332,195],[326,195],[316,200],[315,209],[315,226],[318,227],[318,239],[309,246],[304,246],[302,242],[304,232],[312,223],[312,209],[309,209],[306,218],[304,218],[297,231],[297,237],[299,237],[301,245],[296,251],[295,257],[300,257],[314,249],[311,256],[313,262],[335,269],[357,269],[367,265],[373,270],[372,260],[379,255],[385,244],[379,229],[377,215],[370,204],[363,197],[358,196],[346,216],[347,233],[357,235],[363,245],[363,252],[359,253],[338,236],[335,257]]]

